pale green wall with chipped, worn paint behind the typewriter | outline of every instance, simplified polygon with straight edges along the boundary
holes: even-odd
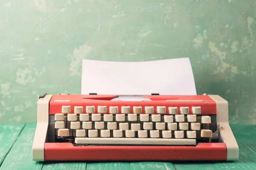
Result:
[[[1,0],[0,122],[35,122],[37,96],[79,94],[81,60],[189,57],[198,94],[256,124],[255,0]],[[104,85],[102,85],[104,86]]]

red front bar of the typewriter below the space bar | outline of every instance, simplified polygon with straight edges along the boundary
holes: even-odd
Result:
[[[73,146],[45,143],[45,161],[226,161],[225,143],[196,146]]]

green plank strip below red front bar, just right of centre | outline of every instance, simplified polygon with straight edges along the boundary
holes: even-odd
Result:
[[[131,170],[175,170],[171,162],[130,162]]]

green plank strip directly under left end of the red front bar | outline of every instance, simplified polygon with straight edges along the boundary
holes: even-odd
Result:
[[[85,170],[86,162],[45,161],[42,170]]]

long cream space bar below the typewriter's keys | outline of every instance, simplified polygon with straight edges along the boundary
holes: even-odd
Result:
[[[76,144],[156,144],[156,145],[196,145],[195,139],[163,138],[83,138],[76,137]]]

